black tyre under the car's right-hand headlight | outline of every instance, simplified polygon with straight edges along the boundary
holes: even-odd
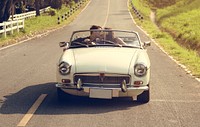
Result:
[[[142,94],[137,96],[137,101],[141,103],[148,103],[150,100],[150,89],[144,91]]]

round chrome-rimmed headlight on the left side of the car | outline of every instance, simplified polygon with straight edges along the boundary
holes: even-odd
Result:
[[[60,74],[67,75],[67,74],[70,73],[70,70],[71,70],[71,66],[68,63],[61,62],[59,64],[59,72],[60,72]]]

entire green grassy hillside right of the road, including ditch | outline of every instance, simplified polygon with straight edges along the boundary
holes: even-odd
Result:
[[[131,2],[143,16],[143,20],[140,20],[132,9],[136,23],[167,54],[184,65],[181,66],[187,73],[191,72],[193,76],[200,78],[200,0]]]

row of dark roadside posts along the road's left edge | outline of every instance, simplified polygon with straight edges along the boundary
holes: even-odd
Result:
[[[78,2],[74,7],[70,8],[69,11],[67,11],[65,14],[58,16],[58,24],[61,23],[61,21],[67,20],[75,11],[77,11],[79,8],[81,8],[88,0],[82,0]]]

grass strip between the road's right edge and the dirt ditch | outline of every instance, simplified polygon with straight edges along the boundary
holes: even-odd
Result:
[[[144,20],[141,22],[132,11],[131,13],[139,26],[142,26],[151,38],[153,38],[163,49],[168,52],[175,60],[185,65],[192,73],[193,76],[200,78],[200,57],[197,52],[180,46],[174,38],[167,32],[161,31],[151,20],[151,9],[147,3],[142,0],[131,0],[134,6],[144,16]],[[164,20],[164,19],[163,19]]]

